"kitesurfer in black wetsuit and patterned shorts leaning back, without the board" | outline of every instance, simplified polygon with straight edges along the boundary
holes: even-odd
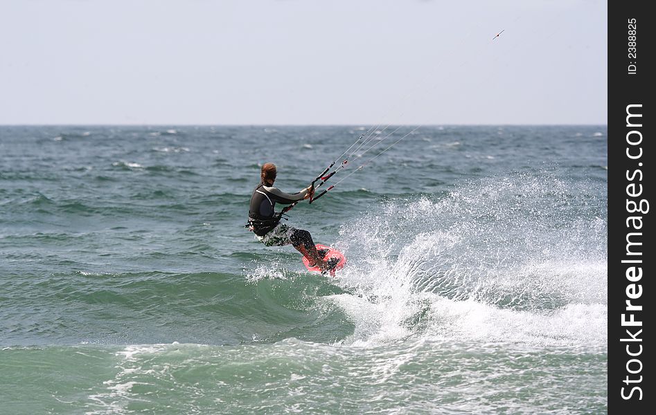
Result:
[[[281,212],[275,211],[276,203],[290,205],[303,199],[309,199],[314,194],[314,187],[305,187],[298,193],[288,194],[274,187],[276,181],[276,165],[265,163],[260,172],[260,184],[255,187],[251,196],[248,212],[249,230],[266,246],[284,246],[290,243],[310,261],[312,266],[319,266],[321,272],[330,271],[337,261],[323,261],[326,252],[320,252],[314,246],[312,235],[307,230],[292,228],[280,223]]]

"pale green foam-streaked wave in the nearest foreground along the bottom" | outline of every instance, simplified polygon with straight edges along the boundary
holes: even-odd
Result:
[[[419,339],[368,349],[290,338],[231,347],[77,344],[0,353],[8,390],[20,388],[35,407],[55,413],[133,414],[166,407],[172,414],[373,414],[397,412],[402,405],[407,412],[456,414],[495,412],[504,394],[504,407],[513,413],[607,409],[605,377],[597,369],[605,366],[605,355],[508,343]],[[32,376],[43,381],[35,385]],[[571,382],[572,376],[580,381]],[[515,398],[517,393],[528,398]],[[10,394],[3,403],[24,405],[21,398]]]

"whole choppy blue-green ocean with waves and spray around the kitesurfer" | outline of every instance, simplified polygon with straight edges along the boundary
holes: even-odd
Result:
[[[606,413],[607,127],[369,127],[0,127],[0,414]]]

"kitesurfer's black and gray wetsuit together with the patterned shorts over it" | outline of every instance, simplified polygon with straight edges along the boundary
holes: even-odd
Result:
[[[266,246],[282,246],[291,243],[305,248],[314,246],[312,236],[307,230],[295,229],[280,223],[281,214],[276,213],[276,203],[290,205],[303,200],[307,190],[289,194],[264,182],[255,187],[248,211],[248,223],[256,237]]]

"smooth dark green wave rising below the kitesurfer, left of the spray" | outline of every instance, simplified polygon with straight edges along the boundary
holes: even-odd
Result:
[[[177,255],[193,259],[199,254]],[[161,262],[169,257],[142,254],[139,260]],[[100,344],[153,339],[240,344],[289,337],[334,342],[352,330],[341,310],[318,301],[344,292],[342,288],[305,273],[267,271],[247,281],[223,273],[112,273],[93,264],[68,266],[75,271],[18,275],[0,284],[12,291],[0,322],[6,333],[3,344],[71,339]],[[46,307],[56,312],[42,313]]]

